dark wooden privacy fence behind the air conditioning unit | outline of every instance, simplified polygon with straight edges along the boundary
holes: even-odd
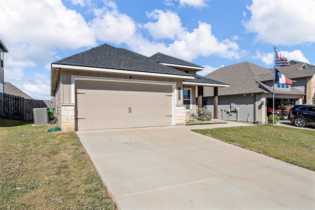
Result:
[[[17,120],[33,120],[33,108],[50,107],[50,100],[26,99],[0,93],[0,116]]]

